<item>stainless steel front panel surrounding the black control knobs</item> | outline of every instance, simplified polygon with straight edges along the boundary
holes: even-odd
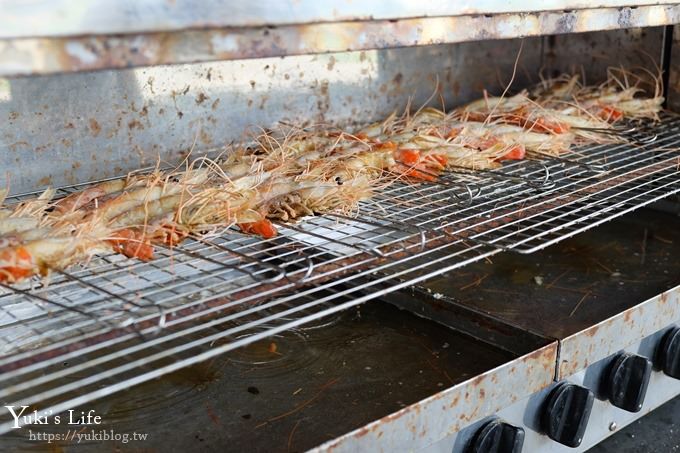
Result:
[[[679,319],[680,320],[680,319]],[[622,350],[642,355],[644,357],[653,357],[654,348],[656,347],[661,335],[665,329],[646,336],[642,341],[636,341],[627,345]],[[581,370],[578,373],[568,376],[566,379],[579,385],[583,385],[594,391],[596,398],[593,405],[593,410],[590,415],[588,426],[586,428],[585,436],[582,444],[578,448],[570,448],[557,442],[553,442],[547,436],[541,434],[539,417],[541,404],[545,397],[550,393],[553,386],[545,388],[530,397],[524,398],[496,414],[497,417],[502,418],[508,423],[524,428],[524,451],[527,452],[581,452],[596,445],[603,439],[613,435],[615,432],[632,423],[633,421],[644,417],[646,414],[659,407],[666,401],[673,397],[680,395],[680,381],[670,378],[660,371],[652,372],[649,382],[649,388],[644,404],[640,412],[627,412],[617,407],[612,406],[599,393],[601,389],[600,380],[602,374],[605,372],[606,366],[609,364],[611,357],[607,357],[598,362],[592,363],[587,369]],[[470,441],[474,432],[487,419],[480,420],[478,423],[470,425],[468,428],[457,433],[457,435],[450,436],[441,442],[431,445],[426,451],[428,452],[462,452],[465,445]],[[610,429],[611,427],[614,429]],[[389,451],[389,450],[385,450]]]

